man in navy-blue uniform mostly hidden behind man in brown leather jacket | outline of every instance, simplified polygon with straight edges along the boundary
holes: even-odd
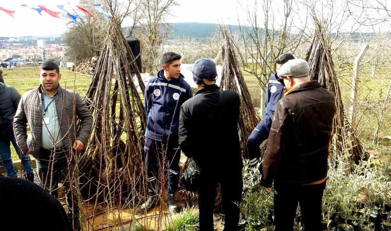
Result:
[[[295,57],[290,53],[279,56],[274,61],[277,70],[280,69],[283,64],[293,59],[295,59]],[[283,84],[283,81],[278,78],[277,72],[270,75],[268,85],[266,86],[267,92],[265,94],[266,112],[263,114],[262,120],[254,128],[253,132],[251,132],[246,144],[251,167],[257,166],[260,162],[261,150],[259,146],[269,137],[277,102],[283,97]]]

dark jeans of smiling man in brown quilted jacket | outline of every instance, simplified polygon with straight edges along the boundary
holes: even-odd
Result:
[[[75,178],[73,176],[75,161],[70,158],[69,151],[64,148],[58,148],[56,151],[48,150],[41,147],[39,159],[37,162],[38,178],[42,183],[42,187],[48,191],[52,196],[58,198],[58,183],[62,183],[65,190],[65,200],[68,207],[68,218],[70,223],[79,219],[78,197],[75,186],[71,190],[71,180],[75,185]],[[68,165],[69,163],[69,165]],[[75,223],[76,224],[76,223]],[[77,226],[78,224],[76,224]]]

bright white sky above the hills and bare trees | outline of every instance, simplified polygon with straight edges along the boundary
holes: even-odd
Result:
[[[247,9],[254,8],[254,0],[177,0],[180,6],[172,8],[170,16],[167,17],[166,22],[200,22],[200,23],[222,23],[222,24],[238,24],[238,17],[241,24],[246,24]],[[368,0],[371,2],[374,0]],[[388,1],[388,0],[386,0]],[[39,15],[31,9],[21,7],[21,4],[29,5],[46,5],[49,9],[57,10],[55,5],[77,5],[79,0],[13,0],[0,1],[0,7],[9,10],[15,10],[15,18],[10,17],[6,13],[0,11],[0,36],[26,36],[26,35],[54,35],[62,34],[66,30],[65,23],[68,18],[55,18],[42,12],[43,16]],[[263,12],[261,4],[263,0],[258,0],[258,22],[263,20]],[[295,1],[299,2],[299,1]],[[337,1],[345,2],[345,1]],[[278,28],[282,23],[283,4],[282,0],[274,0],[272,10],[274,15],[275,27]],[[297,6],[296,6],[297,7]],[[302,10],[303,11],[303,10]],[[81,12],[81,11],[77,11]],[[99,14],[98,11],[93,11],[93,14]],[[307,18],[307,12],[299,12],[299,16],[295,16],[294,25],[303,25]],[[337,17],[337,15],[333,15]],[[350,22],[351,24],[352,22]],[[123,25],[125,26],[125,25]],[[349,29],[349,22],[345,23],[345,28]],[[389,23],[388,26],[389,28]]]

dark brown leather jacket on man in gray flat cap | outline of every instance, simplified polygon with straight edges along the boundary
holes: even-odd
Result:
[[[308,184],[327,176],[335,97],[319,82],[296,86],[278,101],[266,148],[262,185]]]

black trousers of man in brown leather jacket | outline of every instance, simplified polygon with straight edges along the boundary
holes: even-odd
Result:
[[[276,231],[293,230],[297,204],[305,230],[322,231],[322,197],[326,182],[312,185],[278,185],[274,196]]]

